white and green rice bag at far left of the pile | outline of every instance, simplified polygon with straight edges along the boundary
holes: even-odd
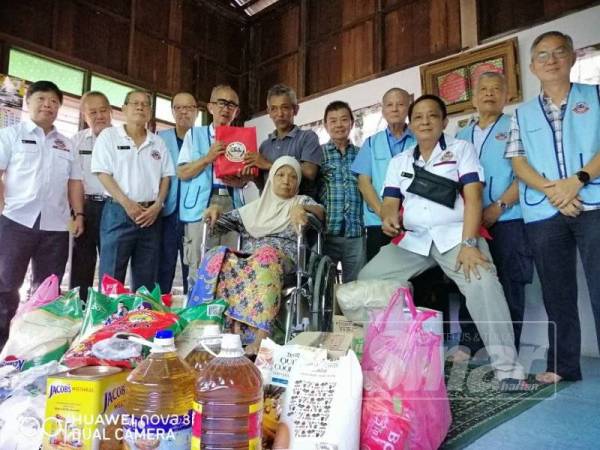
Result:
[[[19,370],[59,360],[79,332],[83,313],[77,289],[15,316],[0,366]]]

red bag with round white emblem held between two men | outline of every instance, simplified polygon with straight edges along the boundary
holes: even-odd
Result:
[[[256,153],[256,128],[217,127],[215,138],[225,145],[225,154],[215,161],[215,176],[240,176],[244,168],[244,156],[248,152]],[[258,168],[253,167],[251,174],[258,176]]]

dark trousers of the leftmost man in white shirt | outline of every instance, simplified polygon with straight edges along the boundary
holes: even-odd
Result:
[[[19,306],[29,261],[33,272],[32,288],[55,274],[62,279],[69,257],[67,231],[40,230],[40,219],[33,228],[0,216],[0,347],[8,338],[10,320]]]

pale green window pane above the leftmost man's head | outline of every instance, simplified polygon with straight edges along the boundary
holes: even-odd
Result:
[[[14,48],[9,53],[8,74],[31,82],[52,81],[61,91],[69,94],[81,95],[83,92],[83,70]]]

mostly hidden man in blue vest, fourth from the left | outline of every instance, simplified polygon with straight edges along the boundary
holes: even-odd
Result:
[[[194,96],[188,92],[180,92],[171,100],[171,111],[175,118],[175,128],[164,130],[158,135],[165,141],[171,153],[171,159],[179,159],[179,151],[183,145],[183,138],[198,118],[198,105]],[[165,201],[162,214],[162,243],[160,263],[158,267],[158,284],[161,292],[171,292],[177,255],[181,259],[181,275],[183,278],[183,292],[187,293],[188,266],[183,261],[183,223],[179,220],[180,182],[177,177],[171,177],[169,194]]]

